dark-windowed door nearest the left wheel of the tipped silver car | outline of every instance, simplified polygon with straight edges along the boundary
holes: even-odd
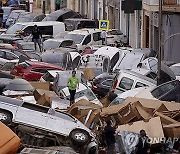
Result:
[[[37,106],[36,104],[24,103],[22,107],[19,107],[15,121],[18,123],[24,123],[35,127],[46,128],[49,114],[48,109]]]

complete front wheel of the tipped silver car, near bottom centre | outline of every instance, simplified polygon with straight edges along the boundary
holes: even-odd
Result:
[[[90,141],[89,133],[82,129],[75,129],[70,133],[71,141],[76,146],[84,146]]]

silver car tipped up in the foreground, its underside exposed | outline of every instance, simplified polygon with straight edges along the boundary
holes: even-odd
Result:
[[[22,141],[33,146],[73,146],[97,152],[95,134],[70,114],[0,96],[0,121],[13,125]],[[86,151],[86,152],[85,152]]]

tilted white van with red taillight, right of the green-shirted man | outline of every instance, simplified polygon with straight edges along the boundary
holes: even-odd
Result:
[[[133,71],[121,70],[116,76],[112,91],[123,93],[139,87],[149,87],[153,89],[156,87],[156,81]]]

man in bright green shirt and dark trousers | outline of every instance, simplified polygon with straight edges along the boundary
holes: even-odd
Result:
[[[79,88],[79,79],[76,77],[76,71],[72,71],[72,76],[68,79],[68,88],[70,93],[70,105],[75,102],[76,89]]]

